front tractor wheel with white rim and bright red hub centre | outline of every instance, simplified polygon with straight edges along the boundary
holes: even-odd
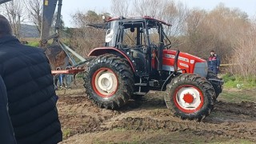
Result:
[[[166,88],[166,106],[182,119],[201,121],[214,109],[214,88],[197,74],[181,74]]]

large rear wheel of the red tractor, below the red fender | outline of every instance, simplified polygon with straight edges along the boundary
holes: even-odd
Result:
[[[107,109],[124,106],[134,92],[133,71],[122,58],[113,54],[94,58],[84,81],[88,98]]]

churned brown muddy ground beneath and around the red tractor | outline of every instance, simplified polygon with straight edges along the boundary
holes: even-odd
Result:
[[[243,93],[239,90],[237,94],[242,97]],[[254,96],[256,90],[246,90],[248,93]],[[151,91],[141,101],[131,100],[118,111],[95,106],[82,86],[58,90],[57,94],[62,144],[256,142],[253,101],[229,102],[220,95],[210,116],[194,122],[173,117],[166,109],[164,92]]]

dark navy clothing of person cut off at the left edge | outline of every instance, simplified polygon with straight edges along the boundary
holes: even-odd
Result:
[[[16,144],[14,129],[10,122],[6,86],[0,75],[0,142]]]

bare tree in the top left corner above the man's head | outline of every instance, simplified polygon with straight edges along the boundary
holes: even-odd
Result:
[[[22,16],[24,15],[24,9],[22,0],[13,0],[3,4],[4,14],[8,18],[10,25],[13,29],[13,33],[17,38],[20,38],[21,22],[24,21]]]

